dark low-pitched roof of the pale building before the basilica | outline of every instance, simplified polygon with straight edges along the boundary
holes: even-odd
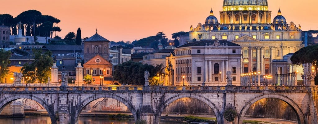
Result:
[[[226,45],[226,43],[227,43],[228,46],[240,46],[239,44],[236,44],[236,43],[233,43],[233,42],[229,42],[229,41],[221,41],[221,40],[220,40],[219,42],[220,42],[220,45],[221,45],[221,46],[222,46],[223,43],[224,43],[224,46]],[[184,45],[182,45],[182,46],[179,46],[179,47],[177,47],[177,48],[190,47],[190,46],[205,46],[205,44],[207,44],[207,45],[209,45],[209,44],[213,45],[213,43],[214,43],[214,40],[213,40],[213,41],[212,41],[212,40],[196,41],[196,42],[186,43],[186,44],[184,44]]]

